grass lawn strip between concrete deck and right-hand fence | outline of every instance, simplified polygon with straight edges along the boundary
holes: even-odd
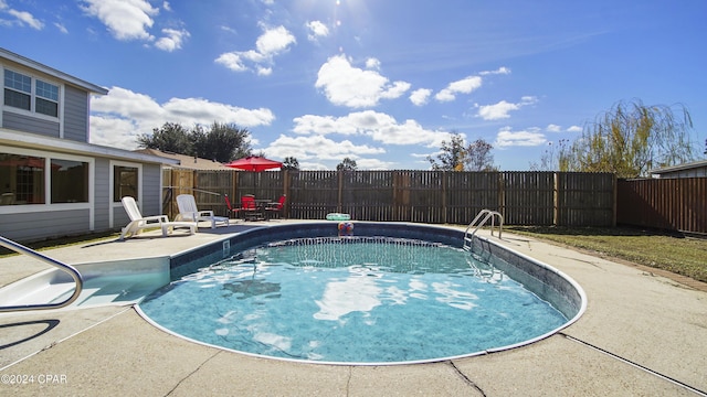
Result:
[[[505,229],[707,282],[707,239],[639,228],[504,226]]]

